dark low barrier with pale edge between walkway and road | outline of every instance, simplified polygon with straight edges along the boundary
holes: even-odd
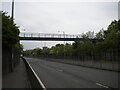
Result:
[[[27,60],[23,57],[21,58],[25,63],[32,90],[37,88],[40,90],[46,90],[45,86],[43,85],[43,83],[41,82],[35,71],[32,69],[30,64],[27,62]]]

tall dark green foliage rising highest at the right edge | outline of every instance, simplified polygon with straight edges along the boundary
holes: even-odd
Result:
[[[103,33],[104,41],[96,44],[96,50],[120,50],[120,20],[113,21]]]

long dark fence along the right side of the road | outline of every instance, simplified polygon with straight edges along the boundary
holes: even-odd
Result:
[[[32,55],[32,57],[43,58],[49,61],[62,62],[86,67],[93,67],[111,71],[120,71],[120,55],[112,52],[99,52],[87,55],[86,53],[79,54],[41,54]]]

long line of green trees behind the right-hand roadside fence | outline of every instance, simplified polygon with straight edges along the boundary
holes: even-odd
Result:
[[[120,51],[120,20],[114,20],[107,30],[101,29],[94,35],[88,31],[82,34],[84,41],[75,41],[72,44],[56,44],[51,48],[35,48],[26,50],[24,55],[49,56],[49,57],[69,57],[83,59],[108,59],[118,60]],[[93,42],[91,39],[98,41]]]

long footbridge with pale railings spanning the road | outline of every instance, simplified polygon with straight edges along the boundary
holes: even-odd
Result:
[[[84,41],[80,34],[55,34],[55,33],[20,33],[20,40],[36,40],[36,41]],[[100,41],[101,39],[91,38],[92,41]]]

